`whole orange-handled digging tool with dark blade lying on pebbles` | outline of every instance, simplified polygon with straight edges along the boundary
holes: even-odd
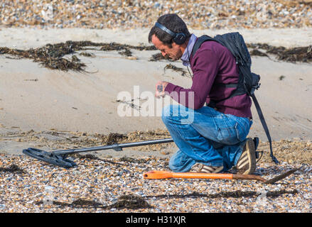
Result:
[[[262,182],[263,184],[274,184],[280,179],[284,179],[285,177],[288,177],[292,173],[296,172],[298,169],[289,170],[281,175],[278,175],[277,177],[268,180],[257,175],[237,175],[231,173],[205,173],[205,172],[168,172],[158,170],[144,172],[143,177],[144,179],[165,179],[165,178],[249,179],[249,180],[254,179]]]

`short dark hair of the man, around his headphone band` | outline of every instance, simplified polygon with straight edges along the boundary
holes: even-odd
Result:
[[[176,13],[165,14],[158,18],[158,23],[161,23],[163,26],[173,31],[174,33],[184,33],[186,36],[186,40],[190,38],[190,32],[188,31],[188,27],[185,22],[178,16]],[[156,26],[151,28],[149,32],[149,43],[151,43],[151,37],[156,35],[156,37],[163,42],[163,44],[168,45],[171,48],[171,44],[173,43],[173,37],[161,30]]]

